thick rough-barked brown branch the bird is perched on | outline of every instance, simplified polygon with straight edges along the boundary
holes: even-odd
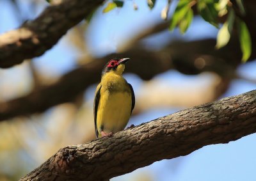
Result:
[[[21,180],[106,180],[256,132],[256,90],[66,146]]]

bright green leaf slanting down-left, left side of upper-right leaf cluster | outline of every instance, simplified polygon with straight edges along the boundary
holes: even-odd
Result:
[[[180,0],[177,4],[177,7],[175,8],[175,11],[172,15],[172,19],[170,20],[170,26],[169,30],[172,31],[184,18],[186,13],[189,12],[190,6],[189,3],[190,0]],[[183,28],[184,29],[184,28]]]

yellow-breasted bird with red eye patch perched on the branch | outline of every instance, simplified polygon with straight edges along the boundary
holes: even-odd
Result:
[[[122,75],[129,59],[111,59],[102,70],[93,104],[97,138],[111,137],[124,130],[129,122],[135,106],[135,95],[131,84]]]

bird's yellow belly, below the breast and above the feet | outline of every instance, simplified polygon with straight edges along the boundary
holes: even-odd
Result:
[[[110,93],[104,91],[100,95],[97,112],[97,129],[104,132],[123,130],[131,116],[131,93],[127,91]]]

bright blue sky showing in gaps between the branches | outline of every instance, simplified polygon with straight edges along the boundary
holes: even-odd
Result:
[[[24,2],[26,1],[20,0],[20,3]],[[133,35],[134,32],[152,26],[154,22],[161,20],[160,12],[166,4],[166,1],[157,1],[156,7],[152,11],[148,10],[147,6],[145,6],[147,3],[146,0],[134,2],[139,6],[137,11],[134,11],[132,8],[133,1],[125,1],[125,6],[122,9],[116,9],[106,14],[102,14],[102,11],[99,10],[99,12],[95,14],[90,28],[88,29],[88,33],[85,35],[88,38],[93,54],[102,56],[109,52],[114,52],[118,44]],[[0,33],[17,28],[20,22],[12,15],[13,10],[10,9],[11,6],[8,6],[8,0],[1,0],[0,6],[6,7],[1,8],[0,12]],[[28,13],[29,10],[26,5],[22,8],[23,10],[27,8],[27,11],[24,12],[29,15],[30,19],[33,19],[45,6],[47,6],[47,3],[44,2],[43,5],[38,6],[36,12],[33,13]],[[6,17],[8,17],[8,19],[6,19]],[[202,21],[202,19],[196,18],[191,28],[189,28],[188,33],[184,36],[179,35],[179,31],[176,30],[172,34],[166,31],[160,35],[148,38],[145,43],[154,45],[161,40],[164,44],[166,43],[164,40],[169,41],[172,40],[172,38],[184,38],[185,40],[195,40],[205,37],[215,38],[217,31],[216,28]],[[35,58],[33,61],[38,70],[49,72],[49,74],[52,75],[61,75],[72,70],[72,68],[76,66],[74,58],[79,56],[79,54],[73,49],[68,48],[68,45],[67,40],[62,38],[60,42],[58,42],[58,45],[54,46],[50,51],[45,52],[45,54],[39,58]],[[237,71],[245,77],[256,79],[255,70],[256,62],[253,61],[252,63],[241,65]],[[1,71],[3,70],[0,70],[0,72]],[[141,80],[138,77],[134,75],[125,76],[128,81],[134,85],[135,90],[140,86]],[[193,82],[193,76],[182,75],[175,70],[157,75],[157,77],[162,80],[173,79],[175,82],[181,84],[190,79],[188,83],[196,84],[195,81]],[[256,85],[253,83],[234,80],[223,97],[237,95],[255,88]],[[93,91],[92,89],[92,91],[88,92],[89,97],[93,96]],[[174,113],[175,111],[179,111],[179,109],[179,107],[150,109],[143,114],[132,117],[131,122],[140,124],[166,114]],[[255,141],[256,135],[252,134],[228,144],[205,146],[185,157],[155,162],[150,166],[137,169],[132,173],[113,178],[112,180],[131,180],[134,178],[134,175],[141,174],[149,174],[153,180],[160,181],[256,180],[254,170],[256,163]]]

